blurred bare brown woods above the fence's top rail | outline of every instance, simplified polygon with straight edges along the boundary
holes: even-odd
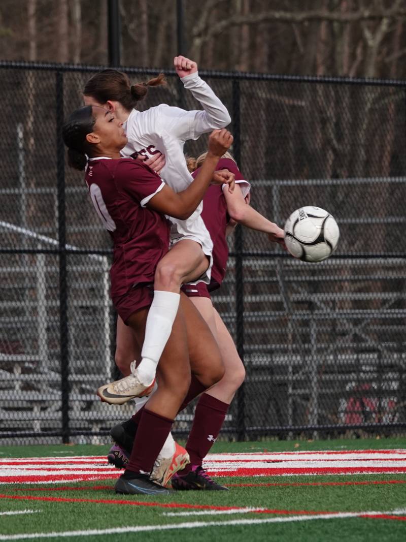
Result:
[[[189,0],[188,55],[204,69],[404,78],[404,0]],[[120,0],[123,66],[172,66],[175,0]],[[2,60],[107,64],[107,2],[2,0]]]

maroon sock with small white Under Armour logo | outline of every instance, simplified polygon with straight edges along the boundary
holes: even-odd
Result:
[[[191,458],[190,464],[182,471],[187,473],[200,466],[209,449],[220,433],[221,426],[227,414],[228,404],[215,397],[203,393],[196,410],[192,430],[186,443],[186,450]]]

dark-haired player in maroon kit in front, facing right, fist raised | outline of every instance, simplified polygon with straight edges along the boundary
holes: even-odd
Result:
[[[193,213],[212,182],[219,157],[231,145],[232,135],[224,129],[210,135],[201,175],[179,193],[139,160],[121,157],[120,150],[127,141],[122,122],[102,107],[77,109],[63,127],[63,139],[69,164],[78,170],[86,168],[91,199],[113,239],[110,277],[115,308],[142,344],[155,270],[168,252],[165,215],[186,218]],[[217,182],[233,180],[229,175],[215,178]],[[116,492],[168,494],[149,479],[149,473],[189,390],[191,370],[205,388],[224,373],[211,332],[193,304],[181,295],[158,365],[159,389],[134,419],[137,431],[133,453],[116,483]]]

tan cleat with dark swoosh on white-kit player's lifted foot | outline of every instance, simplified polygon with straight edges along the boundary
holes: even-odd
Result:
[[[131,375],[100,386],[97,390],[97,395],[102,401],[112,405],[122,405],[127,403],[127,401],[131,401],[131,399],[135,399],[135,397],[144,397],[152,392],[155,378],[152,384],[146,386],[138,378],[135,362],[132,362],[131,370]]]

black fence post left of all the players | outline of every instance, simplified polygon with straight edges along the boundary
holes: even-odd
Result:
[[[59,253],[59,325],[61,353],[61,416],[62,442],[69,442],[69,350],[68,350],[68,292],[65,214],[65,149],[62,140],[63,73],[56,72],[56,178],[58,193],[58,253]]]

